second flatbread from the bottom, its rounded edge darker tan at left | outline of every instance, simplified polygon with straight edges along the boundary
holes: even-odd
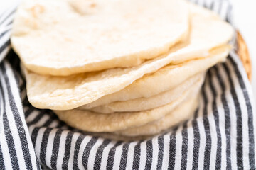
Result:
[[[103,114],[73,109],[54,112],[58,115],[60,120],[63,120],[73,128],[89,132],[114,132],[159,120],[164,115],[173,111],[180,103],[186,101],[189,96],[196,96],[199,89],[200,88],[188,89],[175,101],[148,111]]]

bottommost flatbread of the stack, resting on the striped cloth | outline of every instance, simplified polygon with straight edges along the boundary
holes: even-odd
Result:
[[[174,111],[164,116],[160,120],[156,120],[153,123],[148,123],[135,128],[128,128],[126,130],[121,130],[114,132],[117,135],[123,136],[149,136],[156,135],[166,129],[171,128],[174,125],[178,125],[188,118],[191,118],[194,111],[198,106],[198,97],[189,98],[188,101],[181,103]]]

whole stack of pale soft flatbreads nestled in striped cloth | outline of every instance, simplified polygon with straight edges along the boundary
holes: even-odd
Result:
[[[28,100],[68,125],[150,136],[190,118],[233,28],[182,0],[28,0],[11,44]]]

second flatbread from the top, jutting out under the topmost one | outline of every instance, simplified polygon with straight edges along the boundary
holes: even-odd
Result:
[[[74,74],[68,77],[42,76],[26,71],[28,100],[36,108],[54,110],[78,108],[87,103],[92,103],[92,101],[96,101],[102,96],[120,91],[143,77],[144,74],[156,72],[171,62],[183,61],[186,58],[206,57],[213,48],[228,42],[232,35],[233,28],[228,23],[195,14],[191,18],[190,40],[186,42],[185,47],[180,49],[181,46],[177,45],[171,48],[168,54],[144,62],[137,67],[108,69],[102,72]],[[225,55],[227,55],[226,53]],[[225,56],[218,56],[218,61],[223,60],[223,58]],[[216,62],[211,62],[211,59],[208,59],[208,63],[215,64]],[[203,68],[204,65],[199,65],[199,68]],[[204,67],[204,69],[206,68]],[[191,69],[198,68],[191,67]],[[178,77],[182,79],[186,75],[180,74]],[[155,87],[154,89],[159,89]],[[144,90],[149,91],[149,89]]]

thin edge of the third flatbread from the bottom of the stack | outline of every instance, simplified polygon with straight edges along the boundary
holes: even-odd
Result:
[[[114,113],[127,111],[145,111],[152,108],[158,108],[160,106],[171,103],[171,101],[176,100],[176,98],[181,96],[183,91],[186,91],[189,88],[200,87],[203,84],[204,74],[205,73],[197,74],[196,76],[191,77],[182,84],[178,84],[176,88],[164,91],[161,94],[157,94],[149,98],[135,98],[130,101],[116,101],[103,106],[89,108],[88,110],[98,113]],[[82,108],[81,106],[79,109],[84,108]]]

